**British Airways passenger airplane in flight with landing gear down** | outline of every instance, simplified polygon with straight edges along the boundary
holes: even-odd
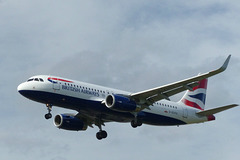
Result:
[[[96,138],[101,140],[107,137],[102,129],[107,122],[130,123],[133,128],[142,124],[179,126],[215,120],[214,114],[238,106],[205,110],[208,78],[225,71],[230,58],[231,55],[217,70],[136,93],[49,75],[33,76],[17,90],[22,96],[45,104],[46,119],[52,117],[53,106],[77,111],[56,115],[54,125],[69,131],[85,131],[96,125]],[[170,101],[170,96],[183,91],[186,93],[180,101]]]

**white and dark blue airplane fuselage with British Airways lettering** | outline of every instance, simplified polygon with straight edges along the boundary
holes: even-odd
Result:
[[[60,77],[39,75],[18,86],[25,97],[44,104],[73,109],[88,117],[102,116],[105,122],[130,122],[136,113],[118,112],[103,103],[110,94],[130,95],[117,89],[102,87]],[[161,100],[137,113],[143,123],[151,125],[183,125],[209,121],[198,116],[199,109],[179,102]]]

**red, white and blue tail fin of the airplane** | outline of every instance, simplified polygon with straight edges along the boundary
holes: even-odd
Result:
[[[188,90],[179,101],[186,106],[204,110],[207,92],[208,79],[199,81],[199,85],[194,87],[192,91]]]

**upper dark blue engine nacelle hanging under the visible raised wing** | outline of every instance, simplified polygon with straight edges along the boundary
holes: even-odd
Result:
[[[108,95],[105,105],[112,110],[120,112],[136,112],[140,109],[135,101],[122,95]]]

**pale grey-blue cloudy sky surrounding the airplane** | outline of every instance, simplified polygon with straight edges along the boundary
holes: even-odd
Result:
[[[98,141],[97,127],[55,128],[46,107],[16,88],[51,74],[136,92],[210,71],[232,54],[226,72],[209,80],[206,105],[240,103],[239,15],[235,0],[1,0],[1,159],[238,160],[239,108],[189,126],[109,123]],[[74,113],[53,109],[66,112]]]

